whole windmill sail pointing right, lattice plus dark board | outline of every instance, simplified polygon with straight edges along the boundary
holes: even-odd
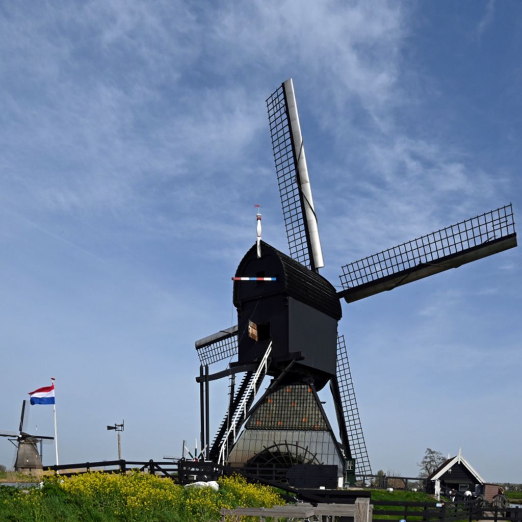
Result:
[[[509,204],[343,266],[338,295],[351,303],[515,246]]]

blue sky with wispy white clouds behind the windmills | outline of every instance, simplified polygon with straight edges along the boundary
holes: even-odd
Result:
[[[198,436],[194,340],[235,324],[254,204],[287,248],[265,99],[289,77],[334,284],[490,208],[517,219],[521,26],[515,1],[2,3],[0,428],[54,376],[62,462],[114,458],[122,419],[127,459]],[[461,447],[522,482],[520,257],[343,305],[375,471]]]

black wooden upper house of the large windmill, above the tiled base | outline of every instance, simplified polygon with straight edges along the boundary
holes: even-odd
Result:
[[[239,331],[247,331],[249,322],[264,329],[264,339],[240,338],[239,364],[260,359],[271,340],[268,375],[279,375],[295,360],[286,380],[304,375],[317,389],[323,388],[335,375],[337,322],[342,315],[335,288],[265,242],[261,243],[260,258],[254,247],[246,253],[235,276],[250,274],[266,274],[276,280],[234,281]]]

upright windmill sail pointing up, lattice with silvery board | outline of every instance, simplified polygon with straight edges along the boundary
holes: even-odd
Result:
[[[292,79],[266,100],[290,256],[312,270],[324,266]]]

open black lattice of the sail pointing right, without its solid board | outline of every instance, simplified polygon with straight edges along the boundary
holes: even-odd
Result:
[[[512,235],[515,223],[509,204],[345,265],[339,279],[343,289],[357,288]]]

